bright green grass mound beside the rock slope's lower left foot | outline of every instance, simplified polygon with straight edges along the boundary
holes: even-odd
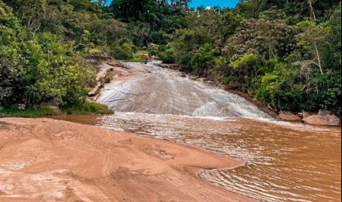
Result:
[[[80,105],[73,105],[62,109],[68,115],[110,115],[113,110],[110,110],[106,105],[97,102],[85,102]]]

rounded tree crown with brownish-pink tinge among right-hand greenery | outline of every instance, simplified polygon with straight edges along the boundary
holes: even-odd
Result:
[[[287,26],[284,20],[270,21],[262,17],[243,21],[227,41],[223,53],[229,60],[237,60],[246,53],[283,58],[294,50],[294,46],[294,28]]]

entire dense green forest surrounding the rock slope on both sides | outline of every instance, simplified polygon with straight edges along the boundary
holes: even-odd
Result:
[[[189,3],[0,0],[0,105],[78,105],[96,61],[147,50],[274,110],[341,117],[341,1]]]

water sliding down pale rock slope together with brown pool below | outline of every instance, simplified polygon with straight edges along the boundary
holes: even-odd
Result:
[[[246,161],[203,179],[260,201],[341,201],[341,129],[278,122],[238,95],[154,63],[145,75],[105,86],[115,110],[99,125],[202,147]]]

